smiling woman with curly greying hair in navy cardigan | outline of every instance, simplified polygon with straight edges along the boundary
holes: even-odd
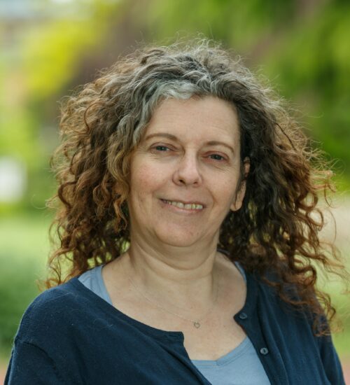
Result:
[[[311,264],[339,267],[311,216],[328,174],[244,66],[139,50],[61,129],[60,244],[6,384],[344,384]]]

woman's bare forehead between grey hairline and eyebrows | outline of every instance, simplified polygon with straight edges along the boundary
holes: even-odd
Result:
[[[165,99],[155,109],[145,137],[169,132],[183,139],[239,139],[235,106],[216,97]]]

